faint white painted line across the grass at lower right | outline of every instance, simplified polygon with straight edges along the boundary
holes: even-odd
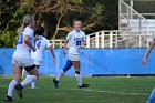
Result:
[[[79,90],[79,89],[69,89],[69,90]],[[91,89],[81,89],[83,91],[87,91],[87,92],[103,92],[103,93],[113,93],[113,94],[123,94],[123,95],[148,95],[146,93],[126,93],[126,92],[116,92],[116,91],[101,91],[101,90],[91,90]]]

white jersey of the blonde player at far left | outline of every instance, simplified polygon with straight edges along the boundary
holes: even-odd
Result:
[[[31,59],[31,54],[30,54],[31,48],[29,48],[24,43],[24,41],[23,41],[24,35],[29,35],[31,43],[33,43],[33,30],[31,28],[27,27],[24,29],[24,31],[21,32],[19,38],[18,38],[17,49],[13,53],[13,56]]]

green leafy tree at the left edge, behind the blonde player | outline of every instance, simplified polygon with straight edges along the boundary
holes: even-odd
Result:
[[[3,0],[0,2],[0,47],[11,48],[16,45],[18,28],[20,27],[21,16],[24,10],[12,0]]]

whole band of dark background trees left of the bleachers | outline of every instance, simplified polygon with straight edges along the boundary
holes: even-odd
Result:
[[[44,24],[48,39],[64,39],[75,19],[86,33],[117,29],[117,0],[1,0],[0,7],[0,47],[16,45],[25,13]]]

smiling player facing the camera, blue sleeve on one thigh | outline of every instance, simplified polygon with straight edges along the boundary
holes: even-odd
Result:
[[[69,32],[64,48],[63,48],[63,54],[65,56],[66,54],[66,44],[70,41],[71,48],[69,49],[69,56],[65,66],[60,71],[58,76],[53,79],[54,86],[58,89],[59,80],[64,75],[64,73],[74,65],[75,68],[75,78],[79,83],[79,87],[87,87],[90,84],[84,84],[82,82],[81,75],[80,75],[80,49],[82,44],[85,44],[85,33],[81,30],[81,21],[75,20],[73,22],[74,30]]]

